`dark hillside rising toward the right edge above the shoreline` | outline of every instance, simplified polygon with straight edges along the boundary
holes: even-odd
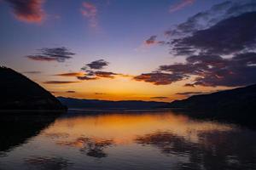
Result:
[[[256,84],[244,88],[219,91],[212,94],[191,96],[188,99],[176,100],[167,105],[170,108],[179,108],[190,111],[225,112],[231,116],[256,111]],[[248,117],[249,119],[250,117]]]

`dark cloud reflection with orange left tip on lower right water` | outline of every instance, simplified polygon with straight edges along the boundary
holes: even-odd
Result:
[[[253,169],[256,167],[255,133],[201,132],[193,143],[172,133],[157,132],[137,137],[138,144],[152,145],[163,154],[189,157],[178,169]],[[253,137],[253,138],[252,138]]]

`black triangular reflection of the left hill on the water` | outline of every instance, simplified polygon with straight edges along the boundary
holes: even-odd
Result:
[[[0,156],[4,155],[3,151],[12,150],[15,146],[26,143],[28,139],[38,135],[41,130],[54,122],[56,117],[57,115],[38,115],[38,113],[22,116],[1,113]]]

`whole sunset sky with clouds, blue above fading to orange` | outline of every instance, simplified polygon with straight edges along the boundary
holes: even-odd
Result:
[[[55,96],[172,101],[256,82],[253,0],[0,0],[0,65]]]

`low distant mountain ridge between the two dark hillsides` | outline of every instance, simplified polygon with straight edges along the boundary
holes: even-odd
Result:
[[[98,99],[74,99],[65,97],[58,97],[57,99],[59,99],[63,105],[67,105],[68,108],[79,109],[155,109],[167,105],[165,102],[139,100],[109,101]]]

